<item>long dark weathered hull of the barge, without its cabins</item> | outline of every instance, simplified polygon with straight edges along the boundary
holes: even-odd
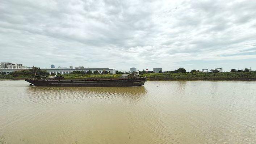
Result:
[[[147,77],[117,78],[117,79],[53,79],[25,81],[35,86],[142,86]]]

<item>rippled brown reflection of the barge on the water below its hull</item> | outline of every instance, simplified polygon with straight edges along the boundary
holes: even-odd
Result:
[[[135,101],[143,98],[147,91],[144,86],[136,87],[28,87],[29,93],[36,99],[48,97],[53,99],[59,98],[115,98],[123,97]]]

